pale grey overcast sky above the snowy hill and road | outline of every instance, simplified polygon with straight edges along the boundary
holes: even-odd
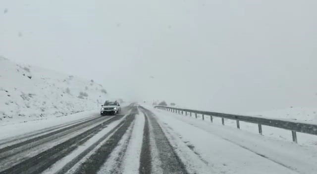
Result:
[[[222,112],[317,106],[316,0],[0,0],[0,55],[115,96]]]

